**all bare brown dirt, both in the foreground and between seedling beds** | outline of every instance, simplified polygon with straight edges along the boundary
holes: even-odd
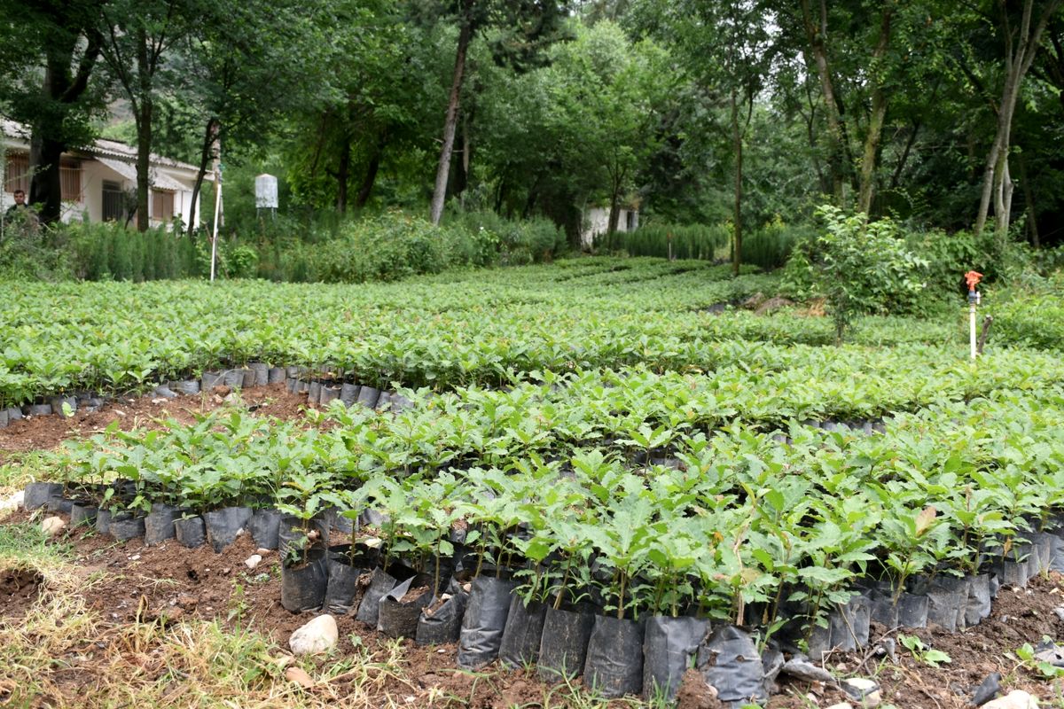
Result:
[[[123,427],[134,423],[152,425],[153,419],[166,416],[190,421],[195,413],[220,406],[225,401],[222,393],[164,402],[150,398],[115,402],[101,411],[79,412],[69,420],[54,416],[27,419],[0,429],[0,456],[52,449],[66,438],[90,435],[115,420]],[[285,419],[300,416],[305,407],[305,398],[287,393],[283,385],[248,390],[243,399],[260,413]],[[30,519],[29,513],[18,511],[0,524]],[[314,613],[293,614],[281,607],[280,562],[276,553],[265,555],[253,571],[245,567],[244,561],[255,553],[247,535],[221,554],[215,554],[210,546],[186,550],[176,541],[157,546],[145,546],[140,540],[118,543],[82,530],[67,533],[62,541],[72,544],[77,573],[84,578],[80,593],[88,608],[115,626],[136,621],[170,626],[186,619],[218,620],[230,628],[254,629],[286,649],[292,632],[314,617]],[[23,618],[37,602],[44,581],[44,577],[32,569],[0,568],[0,624],[17,623]],[[870,648],[830,656],[824,664],[836,676],[876,679],[881,686],[882,703],[904,709],[969,706],[972,691],[992,672],[1001,673],[1005,692],[1024,689],[1038,697],[1044,707],[1064,707],[1061,680],[1044,679],[1034,668],[1015,658],[1015,651],[1025,643],[1034,645],[1045,638],[1064,640],[1064,621],[1054,612],[1062,606],[1064,577],[1052,573],[1033,579],[1027,589],[1001,589],[991,618],[975,628],[952,634],[934,626],[901,630],[904,635],[918,637],[925,647],[945,652],[951,661],[941,668],[919,661],[897,642],[895,660],[877,653],[876,641],[884,637],[896,640],[898,631],[875,625]],[[362,648],[375,657],[383,657],[394,647],[396,641],[353,617],[342,617],[337,621],[340,656]],[[392,696],[409,694],[414,702],[411,706],[418,706],[417,697],[438,694],[461,697],[456,706],[485,709],[548,704],[577,706],[564,698],[545,703],[544,696],[550,693],[550,688],[534,673],[458,672],[453,645],[421,647],[410,640],[399,642],[403,648],[401,672],[394,677],[389,675],[379,690]],[[82,680],[90,678],[82,677]],[[332,687],[340,696],[343,682],[342,677]],[[71,688],[77,692],[78,682],[71,683]],[[847,699],[836,687],[783,678],[768,707],[829,707]],[[614,705],[632,706],[630,702],[615,702]],[[706,692],[700,676],[688,672],[680,692],[679,707],[714,709],[717,706],[719,703]]]

